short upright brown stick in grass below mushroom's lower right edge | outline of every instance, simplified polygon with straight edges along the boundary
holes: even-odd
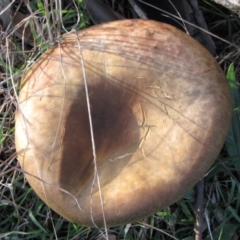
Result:
[[[202,240],[203,231],[203,189],[204,178],[202,178],[197,184],[197,214],[195,223],[195,240]]]

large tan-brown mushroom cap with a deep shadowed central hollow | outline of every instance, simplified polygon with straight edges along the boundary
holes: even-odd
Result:
[[[16,147],[26,178],[66,219],[103,226],[84,74],[107,226],[181,198],[216,159],[230,124],[214,58],[172,26],[123,20],[65,34],[24,77]]]

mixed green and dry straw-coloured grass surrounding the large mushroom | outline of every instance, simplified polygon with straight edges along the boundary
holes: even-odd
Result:
[[[28,3],[16,1],[15,12],[32,15],[1,32],[0,239],[103,239],[104,230],[68,222],[36,196],[21,172],[14,146],[14,112],[21,76],[46,49],[59,41],[61,34],[85,28],[91,21],[81,0],[63,1],[62,11],[52,1],[49,7],[44,1],[24,2]],[[119,7],[121,1],[116,2]],[[128,13],[133,12],[129,7],[126,9]],[[201,185],[142,222],[108,229],[109,239],[111,236],[125,240],[196,239],[196,199],[199,196],[203,197],[201,239],[240,238],[240,19],[210,1],[202,1],[201,9],[209,31],[219,36],[214,38],[217,60],[225,71],[233,98],[232,124],[225,145]],[[50,12],[54,14],[50,16]],[[30,40],[22,29],[18,30],[20,27],[25,32],[30,31]],[[199,186],[203,187],[202,192]]]

